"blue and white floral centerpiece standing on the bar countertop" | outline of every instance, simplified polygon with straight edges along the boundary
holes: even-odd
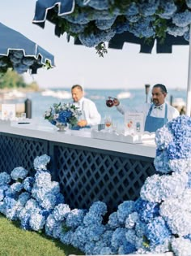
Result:
[[[79,115],[82,115],[82,112],[79,111],[79,107],[74,106],[71,103],[54,103],[53,106],[50,106],[48,111],[45,111],[45,119],[48,119],[49,122],[53,125],[56,125],[57,128],[66,128],[69,124],[71,127],[74,127],[78,123]]]

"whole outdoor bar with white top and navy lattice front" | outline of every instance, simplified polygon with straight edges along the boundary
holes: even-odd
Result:
[[[147,176],[155,173],[155,142],[129,144],[91,137],[86,131],[57,132],[52,125],[0,122],[1,171],[25,167],[34,175],[33,160],[51,157],[49,171],[59,181],[71,208],[87,208],[97,200],[116,210],[134,200]]]

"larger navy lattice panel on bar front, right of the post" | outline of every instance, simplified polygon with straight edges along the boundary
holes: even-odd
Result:
[[[71,207],[88,208],[100,200],[116,210],[121,202],[137,198],[146,177],[155,173],[152,158],[107,153],[56,146],[58,176]]]

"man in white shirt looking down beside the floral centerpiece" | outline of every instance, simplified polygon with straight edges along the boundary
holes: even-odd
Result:
[[[100,124],[101,116],[97,111],[96,104],[90,99],[83,97],[83,88],[81,85],[73,85],[71,94],[74,105],[83,112],[83,119],[78,122],[79,128],[90,128],[92,125]]]

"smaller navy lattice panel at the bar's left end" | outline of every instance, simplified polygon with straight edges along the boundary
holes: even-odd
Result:
[[[0,171],[11,173],[15,167],[24,167],[29,175],[34,174],[33,161],[36,156],[48,153],[48,142],[28,137],[11,137],[0,134]]]

